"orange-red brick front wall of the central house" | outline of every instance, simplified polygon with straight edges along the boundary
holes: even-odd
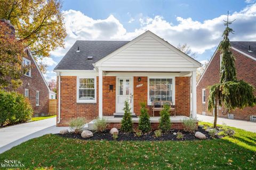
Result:
[[[103,76],[102,112],[103,116],[113,116],[116,112],[116,77]],[[84,117],[92,120],[98,117],[99,83],[97,77],[97,103],[77,103],[77,77],[61,76],[61,122],[58,126],[67,126],[72,118]],[[137,86],[140,85],[141,86]],[[109,90],[109,85],[113,85],[113,91]],[[57,77],[57,91],[58,91]],[[133,109],[136,115],[140,115],[140,102],[147,102],[148,77],[133,78]],[[57,104],[58,104],[57,92]],[[175,77],[175,107],[176,115],[190,116],[190,77]],[[151,114],[150,106],[149,113]],[[159,115],[159,114],[158,114]],[[157,116],[157,113],[155,114]],[[58,120],[58,119],[57,119]]]

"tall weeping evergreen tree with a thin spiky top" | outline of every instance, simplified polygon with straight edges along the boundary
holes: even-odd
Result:
[[[236,78],[235,57],[231,52],[228,38],[229,33],[234,32],[228,27],[232,22],[227,20],[224,23],[227,27],[223,32],[223,41],[219,49],[222,53],[220,83],[210,87],[208,110],[214,109],[214,128],[217,126],[218,103],[219,106],[224,106],[227,112],[236,108],[253,107],[256,104],[256,98],[253,95],[255,88]]]

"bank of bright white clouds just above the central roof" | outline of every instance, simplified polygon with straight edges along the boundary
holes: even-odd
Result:
[[[204,20],[177,17],[178,24],[166,21],[157,15],[154,18],[139,18],[140,28],[127,32],[123,25],[113,16],[107,19],[94,20],[80,11],[65,11],[65,22],[68,36],[65,39],[66,49],[59,48],[52,55],[63,56],[76,40],[131,40],[138,35],[150,30],[174,46],[187,43],[191,50],[202,54],[205,50],[216,47],[221,41],[225,29],[223,20],[226,15]],[[231,41],[255,41],[256,39],[256,4],[246,6],[239,12],[229,16],[230,20],[236,19],[230,26],[235,34],[230,35]]]

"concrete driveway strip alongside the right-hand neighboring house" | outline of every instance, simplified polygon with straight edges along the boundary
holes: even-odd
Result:
[[[209,122],[213,123],[214,117],[213,116],[204,116],[204,115],[197,115],[197,119],[202,122]],[[222,125],[223,123],[227,124],[228,126],[237,127],[244,129],[245,131],[255,132],[256,133],[256,123],[249,122],[245,120],[234,120],[234,119],[226,119],[220,118],[217,119],[217,124]]]

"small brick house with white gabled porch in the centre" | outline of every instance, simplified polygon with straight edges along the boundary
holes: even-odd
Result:
[[[76,41],[54,69],[57,126],[67,126],[76,117],[92,122],[105,117],[110,126],[118,127],[124,101],[129,100],[135,124],[140,102],[147,102],[153,116],[152,101],[171,101],[176,114],[171,118],[173,127],[181,128],[184,117],[196,117],[196,69],[200,66],[150,31],[132,41]],[[159,113],[150,120],[157,126]]]

